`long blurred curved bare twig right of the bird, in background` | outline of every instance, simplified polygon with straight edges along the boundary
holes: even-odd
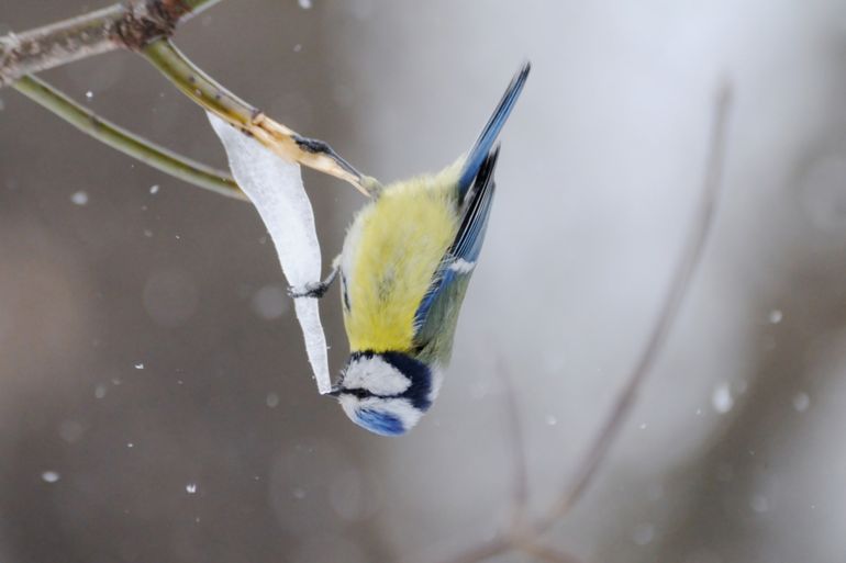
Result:
[[[731,102],[731,87],[730,85],[724,85],[717,93],[714,119],[709,137],[709,153],[702,184],[702,200],[691,228],[690,238],[684,246],[684,251],[676,268],[672,281],[646,347],[641,353],[641,358],[635,364],[635,368],[626,379],[626,384],[609,413],[608,418],[600,427],[600,430],[585,458],[577,465],[577,471],[574,474],[572,480],[564,488],[558,500],[553,505],[549,511],[535,521],[533,526],[511,533],[501,533],[491,540],[469,548],[467,551],[449,560],[449,563],[476,563],[514,548],[519,548],[545,561],[575,561],[571,555],[559,553],[552,550],[552,548],[544,547],[538,542],[538,538],[548,531],[559,518],[567,514],[581,497],[581,494],[587,489],[595,475],[597,469],[611,448],[614,438],[620,433],[622,425],[634,405],[639,386],[652,371],[656,359],[664,349],[667,335],[678,316],[690,286],[690,282],[702,258],[705,241],[708,240],[708,235],[713,223],[723,174],[723,162],[725,160],[726,128]]]

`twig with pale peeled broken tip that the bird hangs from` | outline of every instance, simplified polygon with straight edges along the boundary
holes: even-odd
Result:
[[[169,40],[155,41],[142,53],[183,94],[282,158],[345,180],[365,195],[378,189],[375,179],[361,174],[326,143],[297,134],[223,88]]]

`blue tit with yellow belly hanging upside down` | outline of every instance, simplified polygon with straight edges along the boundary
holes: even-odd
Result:
[[[530,69],[522,65],[466,155],[374,190],[330,275],[294,295],[320,297],[341,279],[350,353],[330,394],[371,432],[408,432],[438,395],[488,227],[497,138]]]

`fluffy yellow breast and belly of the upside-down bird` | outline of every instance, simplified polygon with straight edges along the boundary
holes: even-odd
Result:
[[[342,254],[350,351],[409,350],[414,314],[458,230],[457,166],[389,185],[347,233]]]

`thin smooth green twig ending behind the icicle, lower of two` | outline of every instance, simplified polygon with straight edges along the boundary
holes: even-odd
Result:
[[[230,174],[177,155],[109,122],[81,106],[48,83],[25,76],[13,87],[78,130],[153,168],[215,193],[246,200]]]

